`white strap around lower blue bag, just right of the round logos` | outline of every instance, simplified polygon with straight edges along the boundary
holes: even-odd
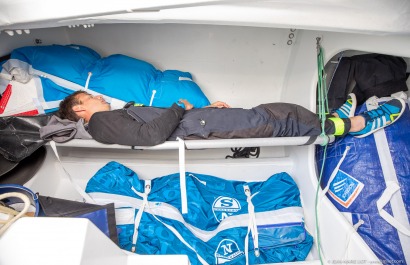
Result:
[[[256,217],[255,217],[255,206],[252,203],[252,197],[255,196],[257,193],[251,196],[251,190],[249,189],[248,185],[244,185],[243,190],[246,194],[246,202],[248,203],[248,215],[249,215],[248,232],[246,233],[246,237],[245,237],[245,258],[246,258],[246,265],[248,265],[249,264],[249,258],[248,258],[249,233],[252,233],[252,241],[253,241],[253,245],[255,248],[255,256],[259,257],[260,255],[258,227],[256,225]]]

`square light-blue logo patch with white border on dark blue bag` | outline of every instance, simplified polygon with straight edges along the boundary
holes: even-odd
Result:
[[[364,187],[364,184],[346,172],[339,170],[330,183],[329,194],[340,205],[345,208],[356,200]]]

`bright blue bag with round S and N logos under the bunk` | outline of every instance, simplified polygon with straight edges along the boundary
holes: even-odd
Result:
[[[186,254],[191,264],[263,264],[304,260],[313,239],[304,228],[299,190],[286,173],[263,182],[186,173],[142,180],[110,162],[88,182],[97,202],[114,202],[119,244],[140,254]]]

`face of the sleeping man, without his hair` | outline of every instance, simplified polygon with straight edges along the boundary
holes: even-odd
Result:
[[[108,104],[102,96],[93,96],[88,93],[81,93],[77,96],[77,99],[81,102],[81,105],[74,106],[79,109],[76,110],[77,115],[88,120],[94,113],[100,111],[110,110],[110,104]]]

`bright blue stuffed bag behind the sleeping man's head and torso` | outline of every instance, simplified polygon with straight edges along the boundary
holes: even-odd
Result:
[[[162,72],[148,62],[121,54],[101,58],[81,45],[18,48],[3,65],[3,71],[20,75],[18,81],[38,78],[38,100],[46,111],[58,107],[59,101],[80,89],[104,95],[107,102],[117,99],[118,104],[134,101],[170,107],[179,99],[187,99],[197,108],[210,104],[190,73]]]

